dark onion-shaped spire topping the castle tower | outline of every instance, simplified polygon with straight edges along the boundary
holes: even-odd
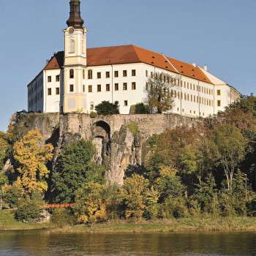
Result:
[[[83,29],[83,19],[80,16],[80,0],[70,0],[69,19],[67,26],[72,26],[74,29]]]

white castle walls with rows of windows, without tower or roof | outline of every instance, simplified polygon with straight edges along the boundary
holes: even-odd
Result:
[[[89,69],[93,72],[92,79],[88,77]],[[135,76],[132,76],[133,69],[136,72]],[[127,77],[123,75],[124,70],[127,71]],[[118,72],[118,77],[115,77],[116,71]],[[97,78],[98,72],[100,72],[101,78]],[[109,78],[106,78],[106,72],[109,72]],[[173,86],[170,87],[170,91],[173,91],[174,99],[173,109],[170,111],[172,113],[183,116],[206,117],[214,115],[220,110],[225,110],[225,107],[233,102],[233,97],[230,97],[232,88],[227,84],[217,86],[204,83],[193,78],[187,78],[182,74],[178,75],[173,72],[167,72],[164,69],[143,63],[116,64],[87,67],[85,69],[84,78],[82,79],[83,84],[80,84],[79,91],[86,95],[85,105],[87,113],[91,113],[96,105],[106,100],[109,102],[118,101],[120,113],[128,114],[132,105],[146,102],[146,83],[151,76],[151,72],[165,72],[173,79],[176,79],[176,84],[173,83]],[[60,75],[59,82],[56,81],[57,75]],[[48,82],[48,76],[51,77],[51,82]],[[35,80],[42,80],[42,75],[35,78]],[[29,84],[28,89],[35,80]],[[69,83],[75,84],[75,81],[69,80]],[[127,90],[124,90],[124,83],[127,83]],[[132,83],[136,85],[135,90],[132,90]],[[110,91],[106,91],[107,84],[110,86]],[[115,89],[115,84],[118,84],[118,91]],[[60,99],[64,93],[63,72],[61,72],[61,69],[45,70],[43,72],[43,85],[42,100],[39,99],[36,105],[34,104],[29,108],[29,111],[59,112],[62,104]],[[101,91],[97,91],[98,85],[101,86]],[[91,86],[92,92],[89,92],[89,86]],[[83,87],[85,91],[83,91]],[[60,95],[56,94],[57,88],[59,88]],[[51,89],[51,95],[48,95],[48,89]],[[218,95],[218,90],[220,90],[220,95]],[[33,93],[36,94],[35,92]],[[34,94],[29,96],[30,100],[31,97],[34,97]],[[220,107],[218,106],[218,100],[221,102]],[[127,101],[127,106],[124,104],[125,101]]]

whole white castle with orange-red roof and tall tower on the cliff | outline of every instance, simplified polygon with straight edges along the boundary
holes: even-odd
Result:
[[[206,117],[225,110],[239,92],[208,72],[207,67],[140,48],[120,45],[87,48],[87,29],[80,17],[80,0],[70,1],[64,51],[54,53],[28,85],[29,112],[91,113],[106,100],[118,101],[121,114],[145,102],[148,78],[170,75],[172,113]]]

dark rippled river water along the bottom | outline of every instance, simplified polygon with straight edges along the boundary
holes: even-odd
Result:
[[[0,233],[3,256],[256,255],[256,233],[49,234]]]

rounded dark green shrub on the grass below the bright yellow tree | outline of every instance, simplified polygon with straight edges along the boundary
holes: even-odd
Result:
[[[39,208],[39,201],[35,199],[20,199],[15,211],[15,219],[19,222],[38,222],[42,218],[42,209]]]

